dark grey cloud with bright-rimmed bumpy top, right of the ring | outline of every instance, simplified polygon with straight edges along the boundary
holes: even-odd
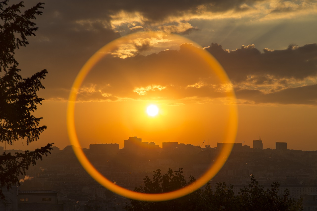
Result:
[[[221,45],[212,43],[205,49],[221,63],[233,82],[247,80],[248,75],[303,80],[317,74],[316,43],[301,47],[290,45],[285,50],[264,49],[264,53],[253,45],[229,52]]]

